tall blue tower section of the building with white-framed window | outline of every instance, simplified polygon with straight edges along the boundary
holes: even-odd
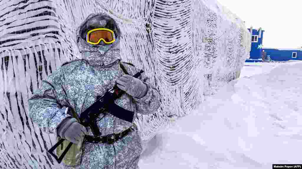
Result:
[[[250,58],[246,62],[262,62],[262,42],[263,42],[263,33],[265,32],[261,28],[259,30],[248,29],[251,33],[251,52]],[[251,31],[252,30],[252,31]]]

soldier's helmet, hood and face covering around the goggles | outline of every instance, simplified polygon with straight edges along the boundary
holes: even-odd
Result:
[[[86,34],[95,28],[107,28],[114,32],[115,41],[105,44],[101,41],[98,45],[86,42]],[[94,67],[111,67],[120,57],[120,29],[117,22],[105,13],[90,14],[77,29],[77,45],[82,59],[88,61]]]

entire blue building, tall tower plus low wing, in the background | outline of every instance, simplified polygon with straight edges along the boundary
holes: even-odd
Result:
[[[262,48],[263,33],[261,28],[258,30],[248,29],[251,33],[251,52],[250,58],[246,62],[262,62],[262,61],[288,61],[288,60],[302,60],[301,49],[275,49]],[[252,30],[252,31],[251,31]]]

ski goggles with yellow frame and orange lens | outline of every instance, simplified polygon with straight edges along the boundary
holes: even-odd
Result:
[[[114,32],[107,28],[92,29],[88,31],[86,41],[93,45],[99,44],[101,41],[111,44],[115,41]]]

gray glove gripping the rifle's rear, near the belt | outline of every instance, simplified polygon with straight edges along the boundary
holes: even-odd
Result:
[[[58,135],[73,143],[79,143],[87,135],[86,128],[76,118],[66,118],[57,127]]]

